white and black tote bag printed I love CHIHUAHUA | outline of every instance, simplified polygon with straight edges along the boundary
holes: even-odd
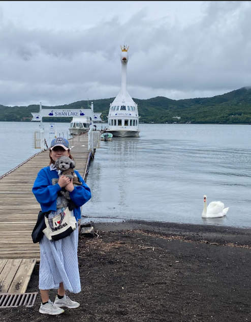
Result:
[[[65,238],[77,228],[76,218],[72,216],[68,207],[53,218],[45,216],[45,224],[46,228],[43,232],[50,241]]]

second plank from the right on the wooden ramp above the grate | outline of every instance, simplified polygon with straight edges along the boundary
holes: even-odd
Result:
[[[22,259],[8,259],[0,274],[0,293],[7,293]]]

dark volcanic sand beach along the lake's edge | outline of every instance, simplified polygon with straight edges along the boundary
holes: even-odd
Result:
[[[39,294],[32,308],[0,309],[0,321],[251,321],[251,229],[127,221],[95,231],[79,238],[82,291],[68,294],[79,308],[40,314]]]

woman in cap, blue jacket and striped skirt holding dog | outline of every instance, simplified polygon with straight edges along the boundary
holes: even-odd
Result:
[[[52,218],[61,211],[61,208],[57,209],[56,207],[57,198],[60,198],[60,196],[57,196],[57,192],[65,187],[76,206],[72,215],[78,221],[81,219],[80,207],[91,198],[90,188],[76,170],[78,179],[82,183],[81,186],[73,186],[72,180],[65,175],[61,175],[58,183],[52,185],[52,179],[58,178],[55,161],[61,156],[68,156],[73,159],[69,141],[63,137],[58,137],[51,141],[50,165],[39,171],[33,186],[33,193],[40,203],[42,211],[50,211],[49,218]],[[42,298],[39,312],[56,315],[64,313],[61,307],[77,308],[80,304],[70,300],[66,296],[66,290],[73,293],[81,291],[77,256],[78,229],[74,230],[70,236],[58,241],[50,241],[44,235],[39,246],[39,289]],[[49,299],[50,289],[57,289],[54,303]]]

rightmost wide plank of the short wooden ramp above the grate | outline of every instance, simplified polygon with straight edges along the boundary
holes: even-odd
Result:
[[[9,293],[25,293],[35,265],[36,258],[22,259],[16,275],[9,285]]]

